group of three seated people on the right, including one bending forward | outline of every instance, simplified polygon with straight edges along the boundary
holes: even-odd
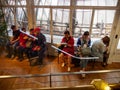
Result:
[[[77,40],[77,56],[79,57],[99,57],[103,63],[103,66],[107,65],[107,48],[110,42],[110,38],[108,36],[104,36],[102,39],[94,41],[91,45],[91,38],[88,31],[85,31],[82,36],[80,36]],[[74,50],[74,38],[70,35],[69,31],[64,32],[64,37],[61,40],[62,50],[71,54],[75,55]],[[60,46],[60,48],[61,48]],[[72,56],[65,54],[64,52],[60,53],[59,57],[62,61],[62,67],[65,65],[68,67],[68,71],[71,70],[71,62]],[[64,60],[66,59],[66,60]],[[85,71],[86,66],[88,63],[88,59],[80,60],[80,68],[81,72]],[[82,74],[85,77],[85,74]]]

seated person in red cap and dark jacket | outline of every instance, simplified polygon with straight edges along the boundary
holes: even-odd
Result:
[[[34,35],[37,38],[37,40],[34,41],[34,45],[32,48],[32,53],[31,55],[38,56],[37,61],[35,62],[36,65],[43,65],[43,59],[44,59],[44,54],[46,51],[46,37],[44,34],[41,33],[41,28],[36,27],[34,29]]]

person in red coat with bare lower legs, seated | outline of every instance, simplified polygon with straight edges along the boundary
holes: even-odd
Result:
[[[68,30],[66,30],[64,32],[64,37],[62,38],[62,41],[61,41],[61,44],[64,45],[63,47],[63,51],[71,54],[71,55],[74,55],[74,39],[72,36],[70,36],[70,32]],[[67,58],[67,63],[68,63],[68,71],[71,70],[71,56],[70,55],[67,55],[65,53],[61,53],[60,55],[61,57],[63,58]],[[62,67],[65,66],[65,62],[62,63]]]

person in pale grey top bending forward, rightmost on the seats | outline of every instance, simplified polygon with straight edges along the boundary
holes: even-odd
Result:
[[[102,65],[107,65],[108,58],[108,46],[109,46],[110,38],[108,36],[104,36],[101,40],[97,40],[93,42],[91,50],[92,55],[95,57],[99,57],[99,59],[103,62]]]

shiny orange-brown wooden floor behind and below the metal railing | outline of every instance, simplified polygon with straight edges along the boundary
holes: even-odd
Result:
[[[30,66],[28,59],[18,61],[16,58],[9,59],[5,54],[0,56],[0,75],[26,75],[26,74],[48,74],[48,73],[61,73],[67,72],[67,68],[62,68],[58,64],[57,57],[45,57],[44,65],[41,67]],[[102,67],[101,63],[96,62],[95,67],[92,68],[92,63],[88,64],[87,71],[93,70],[110,70],[120,69],[120,63],[112,63],[107,67]],[[71,72],[80,71],[79,67],[72,67]],[[108,83],[120,82],[120,72],[105,73],[105,74],[87,74],[83,79],[81,75],[65,75],[65,76],[52,76],[52,87],[62,86],[78,86],[88,85],[93,79],[103,79]],[[0,79],[0,90],[14,90],[14,89],[28,89],[28,88],[43,88],[50,87],[50,78],[46,77],[32,77],[32,78],[10,78]]]

